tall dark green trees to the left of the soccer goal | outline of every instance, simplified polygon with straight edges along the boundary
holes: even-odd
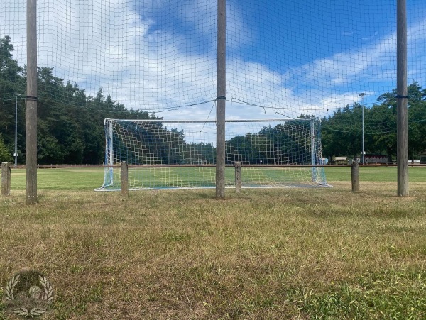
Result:
[[[26,156],[26,68],[13,60],[11,38],[0,39],[0,161],[13,162],[15,104],[18,163]],[[38,68],[38,164],[101,164],[104,161],[104,118],[156,118],[147,111],[129,110],[105,95],[96,96],[53,75],[53,68]]]

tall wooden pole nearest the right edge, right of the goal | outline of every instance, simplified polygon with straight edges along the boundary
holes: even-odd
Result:
[[[407,6],[397,1],[397,144],[398,196],[408,196]]]

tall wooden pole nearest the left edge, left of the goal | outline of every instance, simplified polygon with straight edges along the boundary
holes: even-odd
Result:
[[[26,204],[37,203],[37,0],[27,0]]]

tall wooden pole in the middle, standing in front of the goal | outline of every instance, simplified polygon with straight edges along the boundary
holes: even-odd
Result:
[[[226,0],[217,1],[216,197],[225,197]]]

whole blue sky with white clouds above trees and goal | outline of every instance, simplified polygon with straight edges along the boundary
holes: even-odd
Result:
[[[408,82],[426,87],[426,1],[407,3]],[[38,0],[38,65],[128,109],[214,120],[216,15],[212,0]],[[0,0],[20,65],[25,19],[26,0]],[[226,28],[226,118],[322,117],[396,87],[396,0],[227,0]]]

